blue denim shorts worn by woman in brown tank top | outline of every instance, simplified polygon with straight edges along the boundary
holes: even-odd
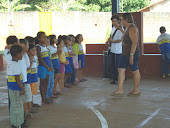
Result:
[[[130,58],[130,55],[128,55],[128,56],[121,55],[118,68],[126,69],[127,67],[130,67],[131,71],[137,71],[139,69],[138,68],[139,57],[134,55],[133,65],[130,64],[129,58]]]

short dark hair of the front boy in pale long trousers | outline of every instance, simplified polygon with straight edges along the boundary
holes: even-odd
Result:
[[[13,45],[10,49],[10,53],[12,57],[17,56],[21,52],[23,52],[23,48],[19,45]]]

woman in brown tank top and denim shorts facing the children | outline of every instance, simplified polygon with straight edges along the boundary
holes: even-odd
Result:
[[[123,94],[123,84],[125,80],[125,71],[127,67],[130,67],[134,77],[134,89],[128,94],[128,96],[139,96],[139,83],[140,73],[138,68],[139,61],[139,32],[138,28],[134,24],[133,16],[130,13],[122,14],[122,24],[126,28],[126,31],[122,37],[122,56],[119,63],[119,80],[118,89],[112,95]]]

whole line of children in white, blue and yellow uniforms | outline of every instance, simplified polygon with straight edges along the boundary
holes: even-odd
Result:
[[[33,102],[33,95],[37,94],[38,77],[42,105],[52,104],[53,98],[61,95],[61,92],[79,81],[85,81],[82,41],[80,34],[76,36],[75,42],[73,35],[59,36],[57,40],[55,35],[47,37],[45,32],[38,32],[36,38],[7,38],[4,53],[11,128],[27,128],[26,119],[38,111],[40,106]],[[78,82],[75,81],[76,70],[79,74]]]

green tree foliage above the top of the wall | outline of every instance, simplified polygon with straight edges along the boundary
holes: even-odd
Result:
[[[151,0],[123,0],[123,12],[136,12]],[[120,0],[122,12],[122,0]],[[13,11],[96,11],[111,12],[111,0],[10,0]],[[1,0],[0,11],[7,11],[8,1]]]

